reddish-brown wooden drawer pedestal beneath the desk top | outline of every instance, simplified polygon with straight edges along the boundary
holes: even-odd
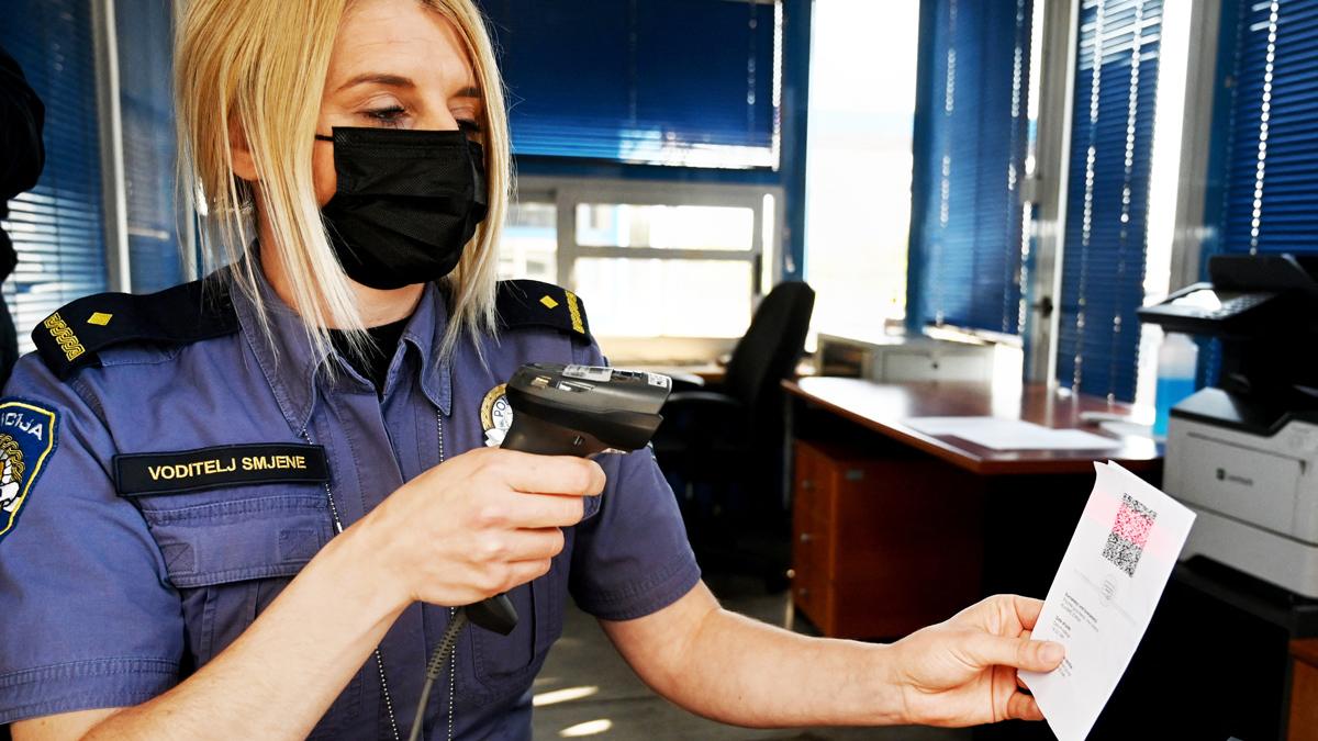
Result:
[[[792,601],[825,636],[895,638],[978,597],[973,476],[797,442],[795,483]]]

